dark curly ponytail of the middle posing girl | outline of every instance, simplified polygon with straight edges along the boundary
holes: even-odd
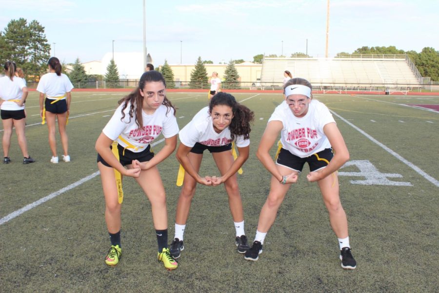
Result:
[[[235,136],[242,135],[244,139],[250,137],[250,123],[255,119],[255,113],[244,105],[239,104],[235,97],[225,92],[219,92],[210,99],[209,111],[216,105],[227,105],[232,108],[233,119],[229,125],[230,138],[235,140]]]

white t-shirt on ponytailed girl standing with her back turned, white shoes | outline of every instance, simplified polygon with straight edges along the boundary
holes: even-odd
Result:
[[[46,95],[48,99],[54,100],[57,97],[63,96],[65,93],[72,91],[73,84],[70,82],[67,75],[61,73],[57,75],[55,72],[46,73],[40,78],[37,90]],[[64,100],[62,98],[61,100]]]

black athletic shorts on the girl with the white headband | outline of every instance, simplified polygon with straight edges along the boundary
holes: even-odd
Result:
[[[328,166],[333,157],[334,153],[332,152],[332,148],[325,148],[322,151],[305,158],[300,158],[293,155],[288,150],[281,148],[276,164],[296,170],[300,173],[305,162],[308,163],[310,171],[316,171]]]

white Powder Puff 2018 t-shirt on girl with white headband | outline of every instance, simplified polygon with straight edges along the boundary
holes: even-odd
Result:
[[[280,131],[280,141],[283,148],[292,154],[305,158],[331,147],[328,138],[323,132],[323,126],[335,123],[331,112],[323,103],[312,100],[305,116],[294,116],[290,107],[283,101],[276,107],[270,121],[280,121],[283,128]]]

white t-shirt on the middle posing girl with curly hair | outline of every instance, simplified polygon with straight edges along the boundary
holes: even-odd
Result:
[[[194,118],[179,133],[180,142],[185,146],[195,146],[200,143],[204,146],[225,146],[232,142],[229,127],[217,133],[213,127],[209,107],[202,108]],[[249,139],[243,135],[236,135],[236,146],[245,147],[250,145]]]

